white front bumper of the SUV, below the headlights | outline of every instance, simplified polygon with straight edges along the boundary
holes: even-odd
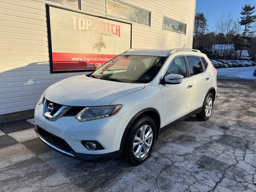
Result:
[[[116,159],[121,155],[120,145],[128,121],[117,116],[79,122],[75,117],[61,117],[49,121],[43,117],[43,105],[35,108],[35,132],[52,149],[71,158],[86,161]],[[104,149],[89,150],[81,141],[100,143]]]

